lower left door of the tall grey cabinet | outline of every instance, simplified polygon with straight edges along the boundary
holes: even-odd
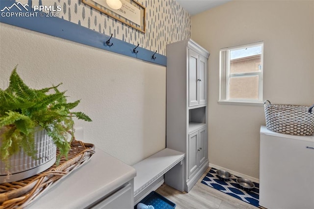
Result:
[[[198,169],[198,131],[188,135],[188,177]]]

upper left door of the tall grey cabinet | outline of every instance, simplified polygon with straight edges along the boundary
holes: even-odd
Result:
[[[199,55],[192,51],[188,50],[188,101],[189,106],[199,104],[199,86],[198,86],[198,64],[199,64]]]

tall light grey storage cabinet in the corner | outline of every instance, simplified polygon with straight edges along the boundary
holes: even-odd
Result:
[[[187,192],[209,166],[208,57],[209,52],[191,39],[167,45],[166,144],[167,148],[185,153]]]

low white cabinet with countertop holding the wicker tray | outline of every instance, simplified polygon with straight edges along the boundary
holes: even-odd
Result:
[[[130,165],[96,148],[81,167],[52,185],[27,209],[132,209],[134,177]]]

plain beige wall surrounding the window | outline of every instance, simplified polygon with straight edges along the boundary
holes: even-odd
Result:
[[[263,106],[217,104],[219,50],[264,41],[263,99],[314,103],[314,1],[234,0],[192,16],[192,39],[209,50],[209,162],[259,178]]]

